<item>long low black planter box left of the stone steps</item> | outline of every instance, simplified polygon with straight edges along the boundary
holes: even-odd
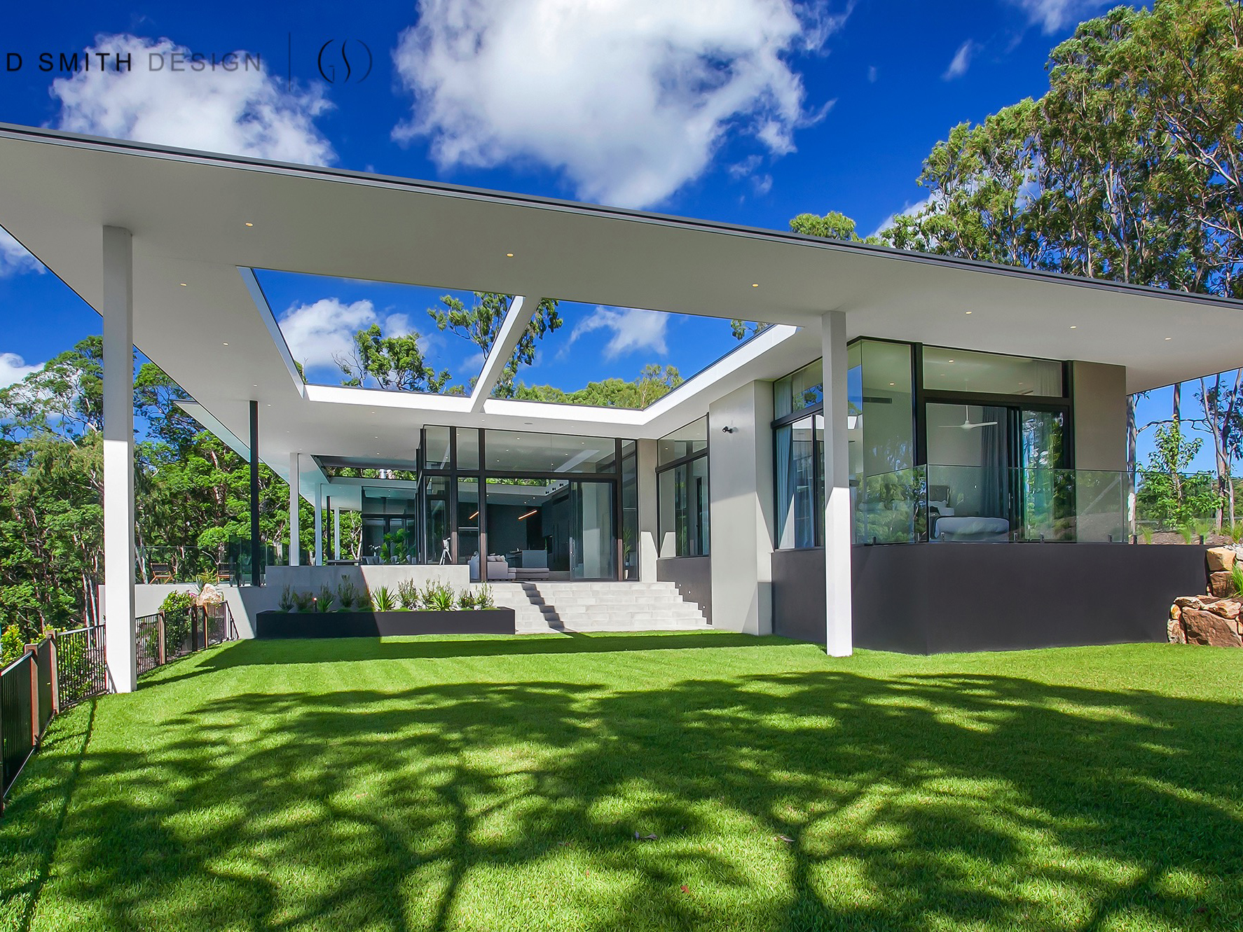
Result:
[[[452,611],[260,611],[255,636],[392,637],[406,634],[516,634],[513,609]]]

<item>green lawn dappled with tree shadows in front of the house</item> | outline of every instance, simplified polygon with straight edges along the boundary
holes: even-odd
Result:
[[[0,927],[1243,928],[1241,675],[1166,645],[240,642],[52,726]]]

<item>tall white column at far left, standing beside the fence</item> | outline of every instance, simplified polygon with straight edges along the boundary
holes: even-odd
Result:
[[[134,277],[129,230],[103,227],[103,616],[108,686],[138,688],[134,647]]]

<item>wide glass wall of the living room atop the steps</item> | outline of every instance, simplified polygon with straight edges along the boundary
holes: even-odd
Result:
[[[633,440],[429,426],[424,447],[429,562],[474,579],[481,563],[488,579],[638,578]]]

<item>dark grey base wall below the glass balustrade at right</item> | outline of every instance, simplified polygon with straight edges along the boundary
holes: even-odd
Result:
[[[1163,641],[1201,547],[930,543],[851,551],[856,647],[904,654]],[[773,634],[824,641],[824,551],[773,553]]]

